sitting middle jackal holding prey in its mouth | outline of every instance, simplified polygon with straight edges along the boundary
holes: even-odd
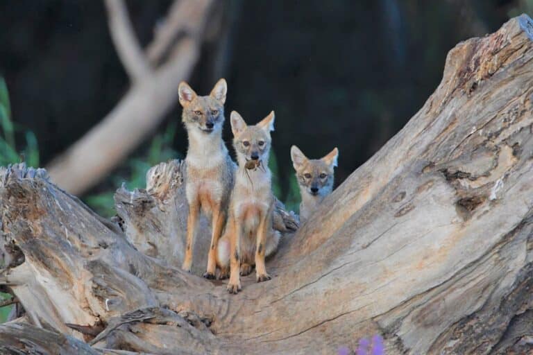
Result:
[[[231,112],[230,120],[239,168],[226,233],[218,245],[217,263],[222,278],[230,268],[228,291],[237,293],[241,289],[240,275],[248,275],[254,264],[257,282],[270,279],[264,258],[276,250],[280,234],[272,227],[274,197],[268,168],[274,112],[257,125],[246,125],[235,111]]]

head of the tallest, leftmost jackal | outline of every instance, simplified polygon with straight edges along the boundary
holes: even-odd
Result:
[[[222,132],[226,92],[228,87],[223,78],[208,96],[198,96],[185,81],[180,83],[178,94],[183,107],[182,121],[188,132],[199,130],[205,135]]]

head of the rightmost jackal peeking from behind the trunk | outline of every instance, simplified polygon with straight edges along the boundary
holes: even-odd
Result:
[[[291,147],[291,159],[301,191],[311,196],[327,196],[333,189],[333,168],[339,150],[333,149],[321,159],[308,159],[297,146]]]

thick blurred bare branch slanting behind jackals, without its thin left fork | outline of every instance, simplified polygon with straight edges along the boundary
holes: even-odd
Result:
[[[113,2],[109,0],[108,2]],[[189,3],[189,1],[186,1]],[[199,58],[201,36],[212,0],[195,1],[183,19],[187,33],[171,50],[169,60],[134,85],[108,116],[48,166],[51,179],[70,193],[82,193],[117,166],[158,126],[178,96]],[[201,6],[203,5],[203,6]]]

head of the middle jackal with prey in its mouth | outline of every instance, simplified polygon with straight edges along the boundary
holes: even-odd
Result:
[[[272,144],[270,132],[274,130],[274,112],[270,112],[256,125],[246,125],[242,116],[232,111],[230,123],[239,166],[245,166],[247,162],[257,162],[267,167]]]

